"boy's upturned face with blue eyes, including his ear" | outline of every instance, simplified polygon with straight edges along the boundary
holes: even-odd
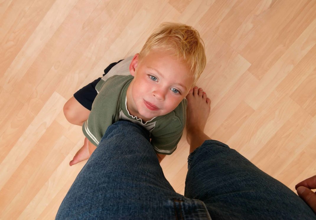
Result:
[[[136,54],[130,72],[134,79],[128,88],[127,107],[146,121],[174,110],[193,85],[187,65],[166,51],[150,51],[141,62]]]

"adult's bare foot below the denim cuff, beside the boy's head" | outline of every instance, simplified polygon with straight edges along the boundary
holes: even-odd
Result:
[[[186,96],[188,106],[186,108],[186,140],[190,145],[190,152],[200,146],[204,140],[209,140],[204,134],[206,120],[210,114],[211,100],[207,98],[202,88],[195,86],[192,92]]]

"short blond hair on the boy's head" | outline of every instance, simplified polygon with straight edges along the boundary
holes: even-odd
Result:
[[[194,76],[194,83],[206,65],[204,42],[193,27],[173,22],[164,22],[149,36],[139,53],[141,61],[151,50],[171,50],[185,60]]]

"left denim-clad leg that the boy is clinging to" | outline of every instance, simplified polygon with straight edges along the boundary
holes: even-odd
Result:
[[[202,201],[173,190],[148,131],[119,121],[106,130],[56,219],[210,219],[210,215]]]

